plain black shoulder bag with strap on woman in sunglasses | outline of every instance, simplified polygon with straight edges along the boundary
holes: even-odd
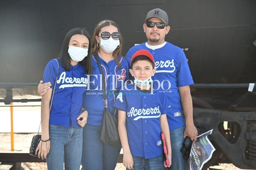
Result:
[[[100,73],[102,75],[102,85],[103,85],[103,100],[104,100],[104,111],[101,125],[100,140],[110,146],[115,146],[121,148],[121,141],[118,134],[118,119],[111,115],[107,109],[107,94],[104,74],[100,65],[100,60],[98,54],[95,55]]]

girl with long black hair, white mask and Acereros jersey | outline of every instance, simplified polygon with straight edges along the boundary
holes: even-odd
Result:
[[[91,56],[89,33],[74,28],[66,34],[57,61],[52,59],[44,69],[43,80],[52,86],[42,97],[42,138],[36,152],[38,158],[46,159],[49,170],[63,169],[63,162],[65,169],[80,168],[85,122],[79,119],[86,119],[81,114],[82,94],[87,86],[85,75],[92,73]]]

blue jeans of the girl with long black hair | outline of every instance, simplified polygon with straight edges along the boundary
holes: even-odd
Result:
[[[83,128],[49,125],[51,148],[46,157],[48,170],[79,170],[82,157]]]

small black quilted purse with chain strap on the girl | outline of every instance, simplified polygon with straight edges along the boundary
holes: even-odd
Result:
[[[57,63],[58,63],[58,61],[57,61]],[[56,83],[57,83],[58,74],[59,74],[59,63],[58,63],[58,72],[57,72],[57,76],[56,76],[56,79],[55,79],[54,88],[53,88],[53,92],[52,92],[52,99],[53,99],[53,95],[54,95],[54,91],[55,91],[55,87],[56,87]],[[51,108],[52,108],[52,100],[51,100],[51,105],[50,105],[50,109],[49,109],[50,112],[51,112]],[[40,129],[40,126],[41,126],[41,122],[39,124],[39,129]],[[30,148],[29,148],[29,154],[31,156],[38,156],[37,153],[36,153],[36,148],[37,148],[37,145],[39,144],[39,142],[41,140],[41,135],[39,135],[39,129],[38,129],[37,135],[33,136],[32,141],[31,141],[31,145],[30,145]]]

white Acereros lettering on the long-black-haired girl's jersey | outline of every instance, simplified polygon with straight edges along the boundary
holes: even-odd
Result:
[[[66,72],[62,72],[60,74],[60,78],[57,80],[58,84],[64,84],[60,85],[60,88],[66,88],[66,87],[86,87],[87,86],[87,78],[81,77],[81,78],[72,78],[72,77],[66,77]]]

